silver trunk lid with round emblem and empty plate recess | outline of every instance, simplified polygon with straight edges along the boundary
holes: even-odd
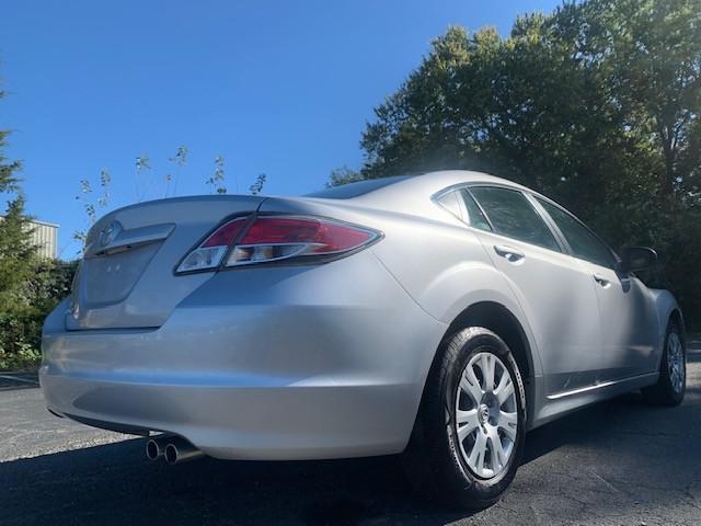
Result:
[[[265,197],[176,197],[127,206],[88,233],[73,283],[68,330],[160,327],[214,272],[175,275],[181,259],[230,216],[255,211]]]

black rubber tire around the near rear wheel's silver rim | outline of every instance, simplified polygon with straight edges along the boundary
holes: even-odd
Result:
[[[517,433],[512,454],[501,472],[478,477],[463,459],[455,423],[458,382],[471,357],[492,353],[508,369],[516,395]],[[449,507],[482,510],[508,488],[520,464],[526,421],[526,396],[516,359],[494,332],[463,329],[439,348],[424,389],[412,436],[402,464],[412,485],[434,502]],[[480,428],[476,428],[480,433]]]

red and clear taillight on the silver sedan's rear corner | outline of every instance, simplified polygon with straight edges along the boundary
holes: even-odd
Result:
[[[226,222],[177,266],[179,273],[276,261],[321,262],[367,247],[379,232],[308,216],[261,216]],[[226,261],[225,260],[226,256]]]

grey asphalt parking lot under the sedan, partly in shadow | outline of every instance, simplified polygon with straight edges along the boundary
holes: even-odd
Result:
[[[536,430],[510,491],[468,514],[423,504],[397,458],[149,462],[145,443],[51,416],[0,375],[0,524],[701,525],[701,341],[687,398],[632,393]]]

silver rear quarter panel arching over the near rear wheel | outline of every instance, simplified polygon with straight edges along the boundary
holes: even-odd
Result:
[[[533,353],[533,376],[541,376],[530,324],[479,238],[428,196],[414,206],[421,215],[377,209],[350,199],[268,198],[260,211],[318,214],[382,231],[383,239],[369,250],[425,312],[449,324],[471,305],[501,304],[521,324]],[[426,350],[426,375],[439,341],[435,343]]]

